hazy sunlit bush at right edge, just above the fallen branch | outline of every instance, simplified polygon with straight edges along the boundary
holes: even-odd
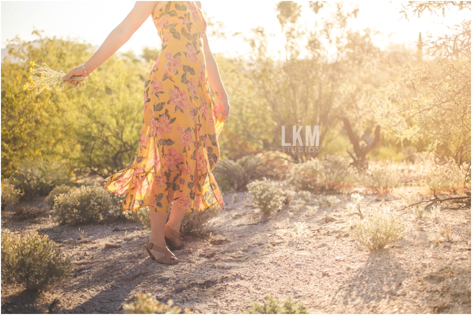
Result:
[[[428,186],[434,194],[441,192],[464,193],[465,185],[470,183],[469,164],[458,165],[453,159],[437,164],[428,174]]]

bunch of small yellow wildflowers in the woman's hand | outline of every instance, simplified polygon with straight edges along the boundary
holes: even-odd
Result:
[[[29,72],[31,73],[29,76],[29,83],[26,83],[23,85],[23,91],[24,90],[34,90],[36,89],[36,95],[41,93],[44,89],[47,89],[48,91],[51,90],[54,86],[58,85],[59,90],[64,90],[64,87],[66,86],[66,81],[64,79],[66,78],[67,74],[64,73],[63,71],[56,71],[51,69],[46,63],[43,63],[42,65],[36,65],[34,61],[29,63],[31,67],[29,68]],[[34,66],[36,65],[36,68]],[[84,83],[85,84],[85,79],[87,76],[72,76],[71,79],[79,83],[79,89],[80,89],[80,84]],[[72,85],[71,90],[75,86]]]

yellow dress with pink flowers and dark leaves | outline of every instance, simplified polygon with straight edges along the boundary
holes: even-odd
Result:
[[[217,203],[223,209],[212,174],[223,118],[207,79],[205,18],[194,1],[167,1],[153,20],[162,50],[144,84],[138,155],[101,185],[124,195],[123,210],[166,212],[174,200],[189,213]]]

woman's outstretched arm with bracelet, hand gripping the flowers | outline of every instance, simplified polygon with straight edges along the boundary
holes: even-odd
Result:
[[[162,2],[162,3],[157,3]],[[98,50],[87,60],[83,66],[88,73],[92,73],[97,67],[108,60],[123,44],[125,44],[136,32],[136,30],[146,21],[150,14],[153,13],[156,4],[163,6],[166,1],[136,1],[131,12],[126,18],[113,30],[105,39]],[[82,66],[75,67],[66,76],[66,82],[78,85],[79,82],[73,83],[71,76],[86,76]]]

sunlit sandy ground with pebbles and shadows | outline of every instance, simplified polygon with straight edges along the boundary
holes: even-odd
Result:
[[[414,188],[411,188],[414,190]],[[347,233],[350,193],[364,192],[364,209],[390,208],[408,225],[403,240],[369,252]],[[284,206],[268,220],[242,192],[224,196],[226,209],[215,217],[207,239],[186,237],[174,251],[180,263],[158,264],[146,252],[149,230],[134,222],[60,226],[49,216],[3,224],[17,231],[48,234],[71,257],[70,281],[44,293],[1,286],[2,313],[123,313],[137,293],[193,313],[242,313],[266,294],[303,302],[310,313],[471,313],[471,208],[442,205],[440,219],[425,212],[417,228],[411,210],[394,194],[378,196],[351,189],[341,202],[295,211]],[[309,205],[316,204],[313,195]],[[294,236],[297,222],[306,235]],[[451,239],[436,244],[441,222]],[[119,248],[105,249],[105,244]]]

